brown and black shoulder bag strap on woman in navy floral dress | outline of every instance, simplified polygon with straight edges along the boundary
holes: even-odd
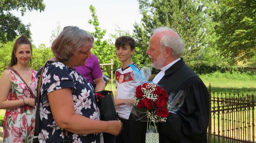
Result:
[[[43,76],[43,72],[45,71],[45,66],[48,64],[48,63],[53,63],[54,61],[47,61],[45,63],[45,65],[43,66],[42,68],[42,71],[41,71],[41,75],[40,75],[40,78],[39,78],[39,83],[38,83],[38,86],[37,86],[37,110],[36,110],[36,117],[35,117],[35,120],[36,120],[36,126],[35,126],[35,132],[34,132],[34,138],[33,138],[33,143],[39,143],[39,139],[38,139],[38,135],[39,135],[39,130],[40,130],[40,114],[39,114],[39,99],[40,99],[40,94],[41,94],[41,84],[42,84],[42,76]],[[68,131],[64,130],[63,129],[63,135],[64,135],[64,139],[63,139],[63,143],[69,143],[69,137],[68,137]]]

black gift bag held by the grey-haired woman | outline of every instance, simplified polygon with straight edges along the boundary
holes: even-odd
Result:
[[[100,117],[103,121],[117,120],[116,107],[114,103],[113,92],[102,90],[95,92],[95,100],[100,110]],[[115,143],[116,136],[103,133],[104,143]]]

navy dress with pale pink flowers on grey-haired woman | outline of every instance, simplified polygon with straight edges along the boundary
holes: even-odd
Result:
[[[36,76],[36,88],[41,71],[42,68],[38,71]],[[74,68],[69,68],[61,62],[47,64],[42,75],[42,85],[39,88],[41,88],[41,97],[39,102],[41,132],[39,132],[38,135],[40,143],[63,142],[63,129],[61,129],[54,121],[47,98],[48,93],[54,90],[71,88],[75,113],[90,119],[100,120],[99,108],[94,98],[93,87],[91,86],[90,82],[87,81],[82,75],[77,73]],[[35,94],[35,96],[37,99],[37,94]],[[38,103],[36,103],[36,105],[37,104]],[[102,133],[75,134],[69,132],[69,142],[103,143],[103,135]]]

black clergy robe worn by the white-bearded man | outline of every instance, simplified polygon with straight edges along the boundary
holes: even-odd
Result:
[[[170,113],[167,121],[158,123],[159,143],[206,143],[209,122],[209,94],[202,80],[181,58],[165,71],[157,83],[168,94],[175,95],[186,90],[183,105]],[[130,115],[128,123],[128,143],[144,143],[147,122],[135,121]]]

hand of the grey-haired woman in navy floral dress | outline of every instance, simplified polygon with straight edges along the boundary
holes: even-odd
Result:
[[[108,133],[112,135],[119,135],[121,131],[123,130],[123,123],[121,121],[107,121],[109,123],[108,126]]]

